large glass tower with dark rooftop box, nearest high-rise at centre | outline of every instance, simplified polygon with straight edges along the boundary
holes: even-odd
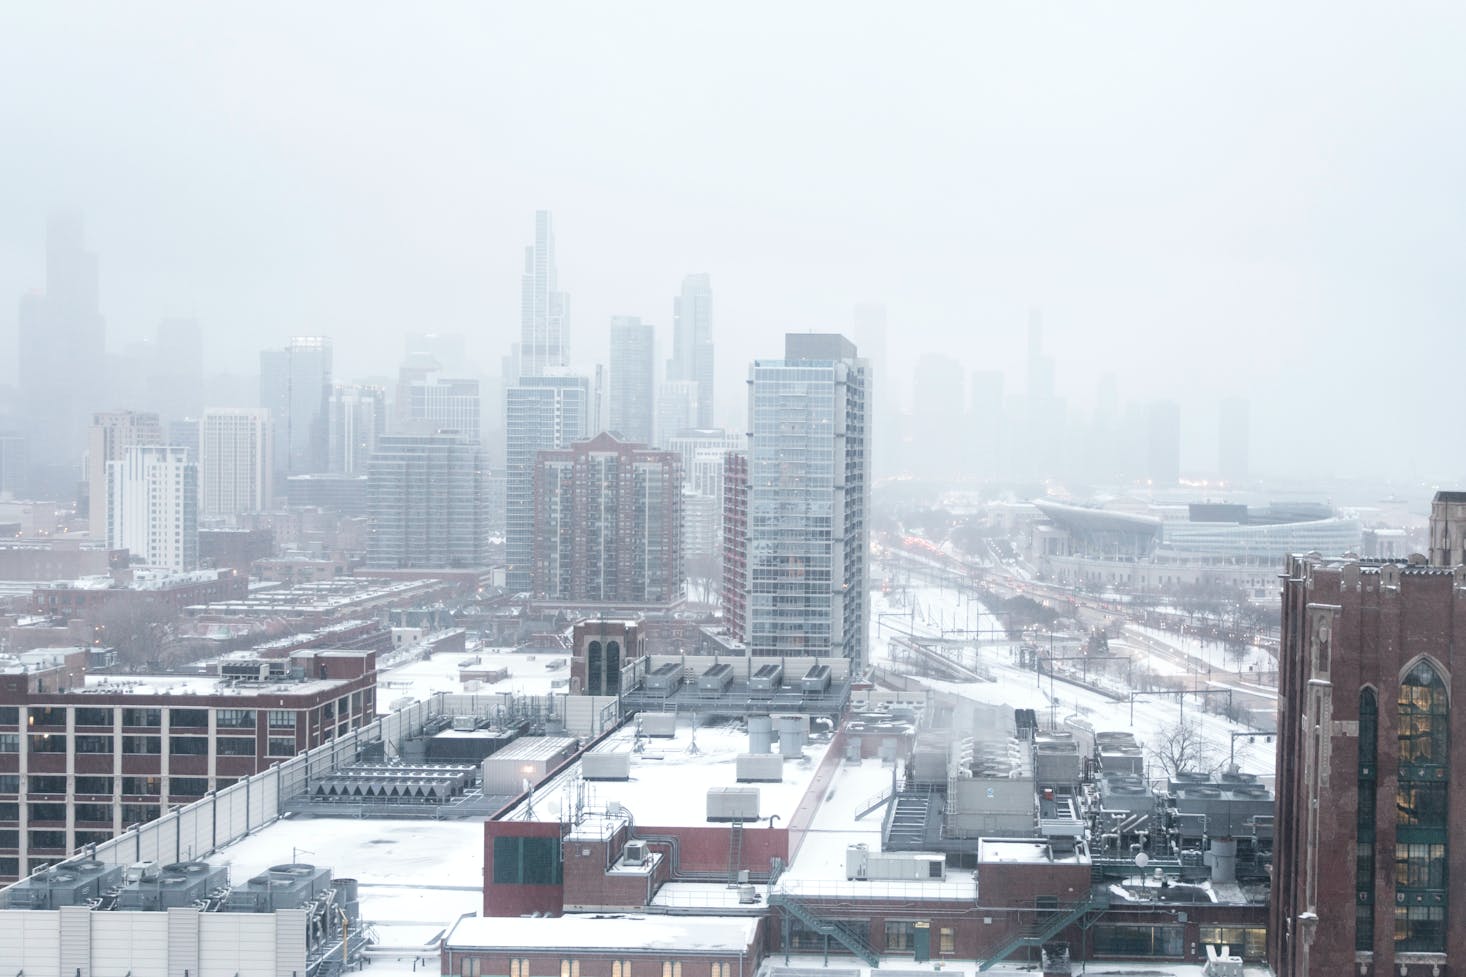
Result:
[[[743,640],[755,656],[865,663],[866,395],[866,362],[840,334],[790,333],[783,359],[749,368]]]

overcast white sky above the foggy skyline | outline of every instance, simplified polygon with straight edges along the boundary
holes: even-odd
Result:
[[[1459,3],[10,3],[0,332],[76,210],[114,348],[497,370],[542,207],[581,361],[712,274],[724,412],[859,301],[903,390],[924,351],[1020,390],[1041,307],[1060,392],[1182,400],[1189,459],[1236,392],[1255,468],[1454,477],[1463,50]]]

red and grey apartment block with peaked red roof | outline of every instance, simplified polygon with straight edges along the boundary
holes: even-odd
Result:
[[[682,465],[597,434],[535,459],[534,593],[566,603],[683,599]]]

